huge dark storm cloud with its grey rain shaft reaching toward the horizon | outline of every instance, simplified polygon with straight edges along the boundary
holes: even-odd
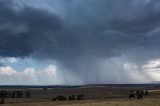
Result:
[[[104,75],[103,58],[126,55],[128,62],[143,63],[159,57],[158,0],[64,1],[63,16],[31,6],[16,9],[10,0],[0,1],[0,55],[53,59],[86,83],[104,81],[105,76],[115,82],[114,62]],[[119,70],[128,79],[123,68]]]

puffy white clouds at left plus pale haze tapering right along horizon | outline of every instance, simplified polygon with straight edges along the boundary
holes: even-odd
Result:
[[[73,75],[73,74],[72,74]],[[55,65],[49,64],[44,69],[33,67],[17,71],[10,66],[0,67],[0,85],[77,85],[84,84],[78,76],[62,73]]]

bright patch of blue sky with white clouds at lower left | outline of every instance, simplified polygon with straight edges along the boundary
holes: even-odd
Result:
[[[0,63],[0,85],[84,84],[78,76],[59,68],[53,60],[1,57]]]

